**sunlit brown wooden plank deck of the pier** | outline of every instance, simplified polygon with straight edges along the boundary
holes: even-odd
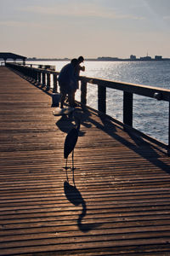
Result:
[[[6,67],[0,107],[0,255],[170,255],[166,154],[80,109],[74,187],[63,169],[73,120]]]

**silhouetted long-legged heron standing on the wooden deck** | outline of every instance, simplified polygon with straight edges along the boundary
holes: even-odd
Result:
[[[65,146],[64,146],[64,158],[66,159],[65,161],[65,170],[67,171],[67,160],[69,154],[72,153],[72,172],[74,174],[74,148],[76,147],[77,144],[77,139],[78,139],[78,132],[80,130],[80,119],[75,118],[75,123],[76,126],[71,129],[71,131],[68,132],[67,136],[65,137]],[[67,175],[67,172],[66,172]],[[68,176],[67,176],[68,180]],[[74,182],[74,175],[73,175],[73,182]]]

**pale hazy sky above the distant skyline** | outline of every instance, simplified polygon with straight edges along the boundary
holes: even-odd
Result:
[[[170,0],[0,0],[0,52],[170,57]]]

